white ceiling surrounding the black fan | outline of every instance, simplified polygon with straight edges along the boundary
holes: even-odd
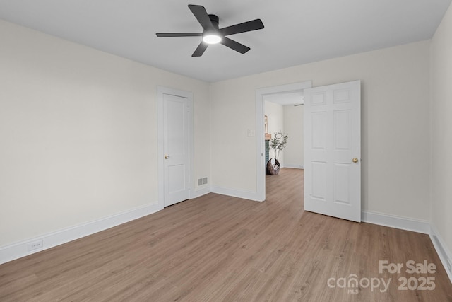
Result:
[[[230,35],[239,54],[211,45],[191,57],[201,32],[188,4],[220,28],[261,18],[265,28]],[[451,0],[0,0],[0,18],[194,79],[213,82],[432,37]],[[0,42],[1,43],[1,42]]]

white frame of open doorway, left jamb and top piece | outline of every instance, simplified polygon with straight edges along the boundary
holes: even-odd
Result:
[[[311,87],[312,81],[305,81],[256,89],[256,200],[258,202],[266,199],[264,96],[303,91]]]

